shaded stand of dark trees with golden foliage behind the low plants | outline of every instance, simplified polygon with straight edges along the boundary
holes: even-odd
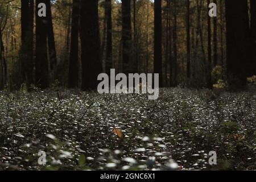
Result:
[[[2,0],[0,88],[95,89],[97,75],[115,68],[160,73],[161,87],[245,89],[256,75],[256,5],[213,1],[210,17],[210,3]]]

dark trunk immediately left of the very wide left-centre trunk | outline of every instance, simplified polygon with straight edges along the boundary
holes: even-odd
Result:
[[[71,46],[69,53],[68,86],[76,88],[79,82],[79,6],[80,0],[73,0]]]

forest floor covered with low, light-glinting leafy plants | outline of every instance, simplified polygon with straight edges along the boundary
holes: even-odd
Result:
[[[155,101],[1,92],[0,103],[0,170],[256,169],[255,92],[173,88]],[[208,164],[210,151],[217,165]]]

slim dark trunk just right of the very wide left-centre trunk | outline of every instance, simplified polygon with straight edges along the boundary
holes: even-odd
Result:
[[[106,18],[106,73],[110,75],[110,69],[113,68],[112,62],[112,1],[105,0],[105,18]]]

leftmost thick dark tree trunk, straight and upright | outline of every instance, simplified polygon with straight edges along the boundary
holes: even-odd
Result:
[[[20,67],[21,80],[19,84],[33,83],[33,44],[34,44],[34,0],[21,1],[21,48]]]

